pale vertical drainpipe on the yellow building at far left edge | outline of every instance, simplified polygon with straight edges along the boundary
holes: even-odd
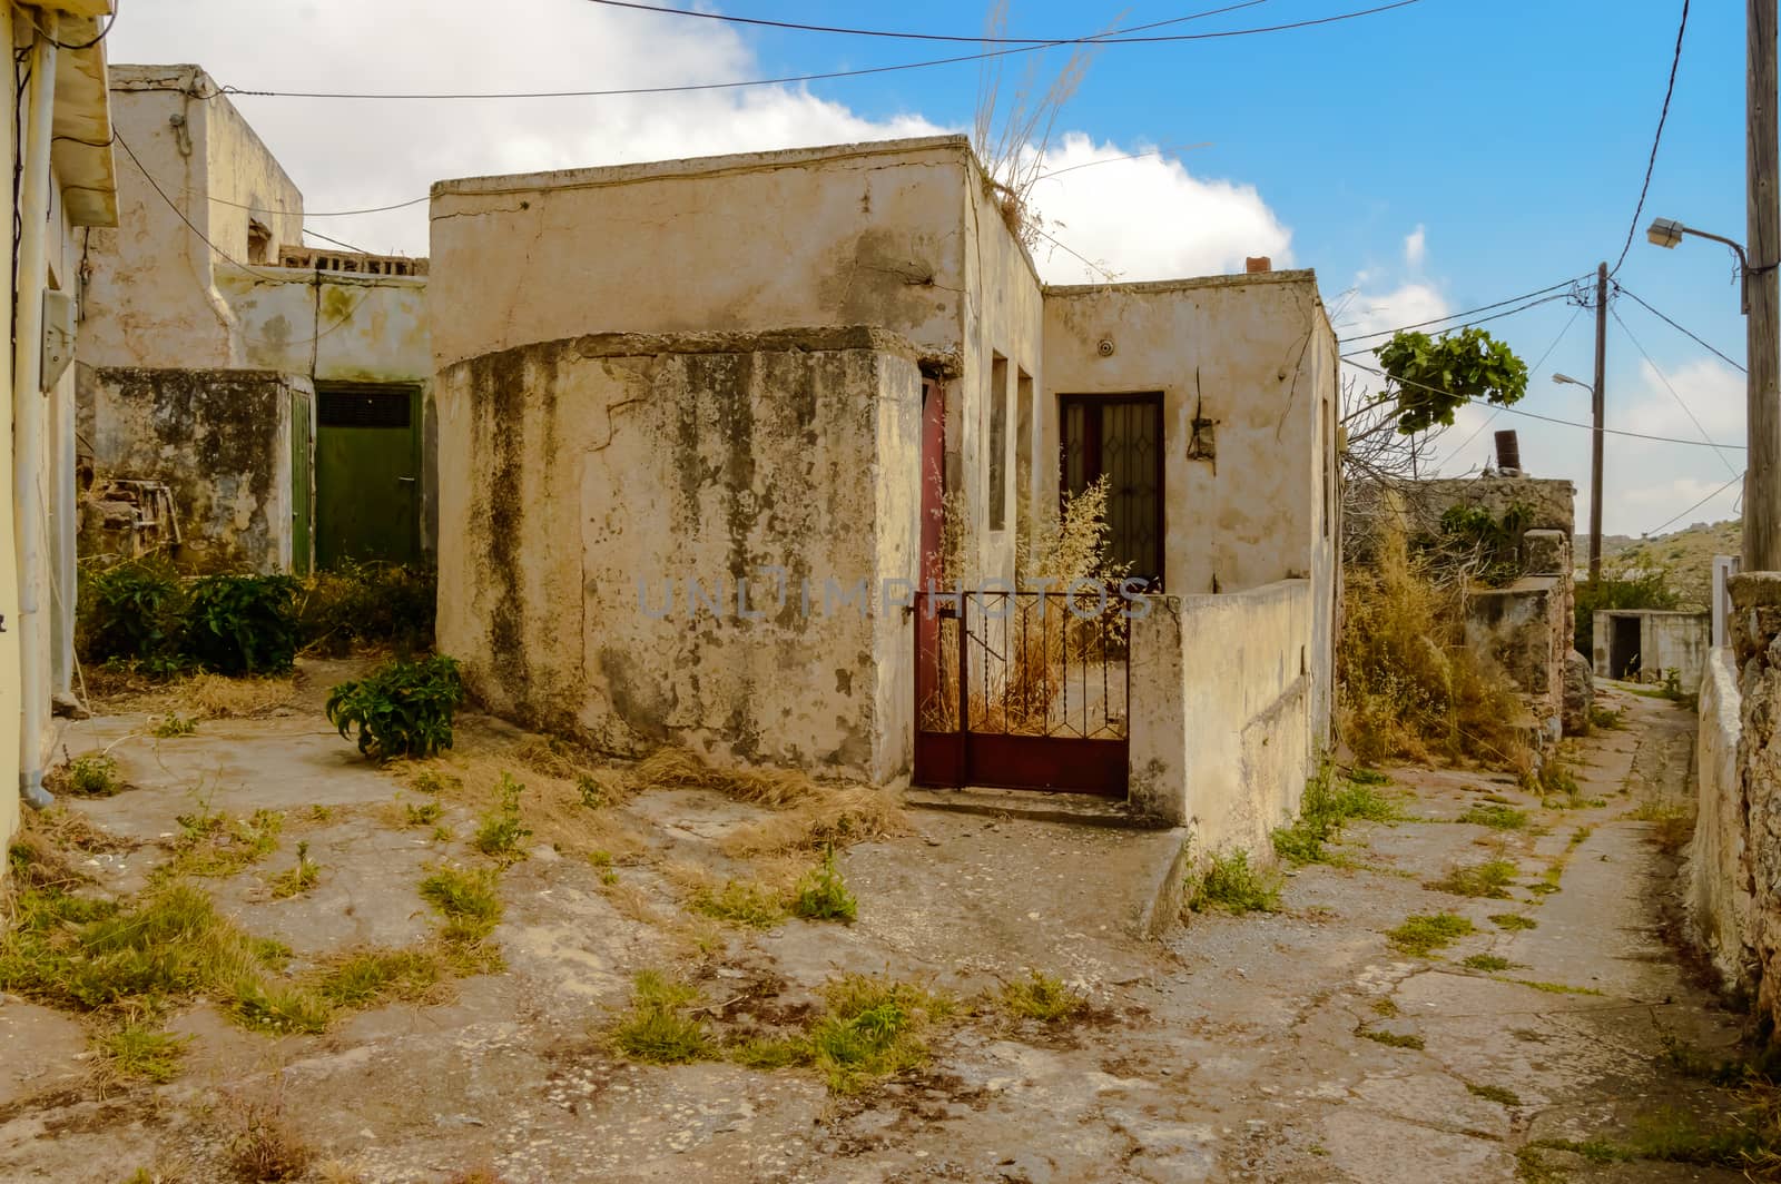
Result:
[[[25,805],[37,810],[53,798],[43,789],[43,716],[50,709],[48,655],[43,628],[43,288],[50,224],[50,137],[55,116],[57,14],[37,9],[37,36],[30,46],[23,182],[20,185],[18,269],[12,281],[12,513],[18,532],[20,600],[20,774]]]

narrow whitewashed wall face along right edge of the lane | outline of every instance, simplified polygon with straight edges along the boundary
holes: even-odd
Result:
[[[1701,680],[1701,734],[1694,750],[1699,808],[1685,885],[1690,937],[1731,992],[1754,983],[1751,864],[1738,789],[1742,710],[1735,655],[1729,646],[1715,650]]]

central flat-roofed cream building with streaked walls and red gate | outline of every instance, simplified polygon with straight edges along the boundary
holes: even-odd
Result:
[[[495,710],[1208,846],[1297,808],[1339,547],[1309,271],[1047,287],[964,137],[451,180],[431,217],[438,643]],[[1102,477],[1126,582],[1045,588]]]

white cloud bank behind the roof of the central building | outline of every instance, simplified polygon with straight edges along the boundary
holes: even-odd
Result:
[[[472,0],[240,0],[123,5],[114,62],[198,62],[221,84],[283,91],[623,89],[753,78],[748,41],[714,21],[565,0],[509,0],[490,25]],[[919,77],[919,75],[912,75]],[[573,100],[347,101],[237,96],[310,210],[419,198],[435,180],[634,160],[930,135],[921,112],[862,116],[801,87]],[[1065,112],[1067,114],[1067,112]],[[1060,137],[1063,169],[1134,151]],[[1291,262],[1291,231],[1254,187],[1193,176],[1163,158],[1115,160],[1040,182],[1047,231],[1126,280],[1241,271],[1247,255]],[[426,205],[315,219],[369,251],[426,251]],[[1101,276],[1042,242],[1047,280]]]

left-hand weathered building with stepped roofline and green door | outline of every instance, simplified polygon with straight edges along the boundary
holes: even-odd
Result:
[[[119,66],[87,231],[84,550],[308,572],[433,545],[426,260],[303,246],[303,194],[196,66]]]

